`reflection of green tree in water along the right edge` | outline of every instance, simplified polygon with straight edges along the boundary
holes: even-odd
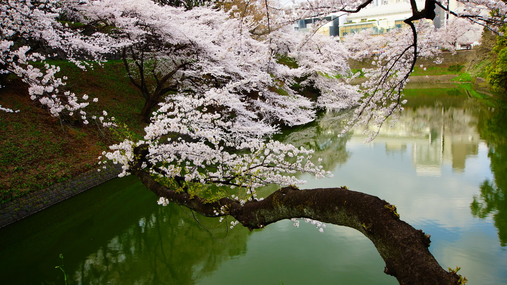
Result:
[[[500,244],[507,246],[507,111],[484,106],[481,111],[477,128],[489,147],[494,181],[486,179],[481,184],[481,194],[474,196],[470,209],[482,219],[492,215]]]

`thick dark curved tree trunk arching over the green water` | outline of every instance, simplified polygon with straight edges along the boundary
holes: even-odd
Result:
[[[226,206],[229,215],[250,230],[291,218],[354,228],[373,242],[385,261],[384,272],[396,277],[400,284],[459,284],[459,275],[444,270],[428,251],[429,235],[401,221],[395,208],[376,196],[346,188],[298,190],[285,187],[262,201],[249,201],[244,205],[229,198],[206,202],[160,185],[139,168],[133,173],[157,196],[203,216],[224,216],[216,216],[214,210]]]

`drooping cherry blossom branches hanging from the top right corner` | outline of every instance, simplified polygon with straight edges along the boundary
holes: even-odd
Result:
[[[355,13],[365,9],[372,2],[373,0],[319,0],[295,3],[293,8],[284,10],[284,16],[277,23],[294,22],[297,19],[329,13]],[[403,88],[409,81],[417,58],[433,58],[438,62],[439,51],[436,47],[443,46],[454,50],[452,41],[456,37],[455,33],[461,35],[463,29],[469,28],[469,25],[464,23],[477,23],[495,32],[498,32],[498,28],[504,24],[504,15],[507,12],[507,5],[504,2],[490,0],[457,0],[457,2],[463,4],[459,11],[449,10],[448,2],[445,0],[426,0],[423,7],[418,6],[416,0],[410,0],[412,16],[404,20],[410,29],[395,30],[384,37],[378,37],[371,32],[349,37],[349,43],[346,45],[351,48],[356,59],[370,58],[370,55],[379,49],[384,53],[371,58],[377,68],[365,70],[370,76],[369,80],[363,84],[364,88],[360,91],[363,96],[358,100],[359,108],[355,110],[356,115],[349,121],[343,133],[354,125],[369,124],[371,128],[365,131],[365,134],[369,134],[366,141],[371,141],[387,118],[396,111],[403,110],[402,105],[405,102],[402,99]],[[449,28],[434,30],[426,21],[434,19],[436,16],[434,10],[437,6],[461,20],[452,21]],[[268,5],[264,9],[266,13],[270,10],[280,10]],[[491,15],[488,11],[495,13]],[[314,31],[319,27],[316,25]],[[449,37],[450,34],[452,37]]]

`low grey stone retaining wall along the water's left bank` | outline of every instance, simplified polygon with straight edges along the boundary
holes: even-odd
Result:
[[[116,177],[121,165],[89,170],[72,179],[0,205],[0,228]]]

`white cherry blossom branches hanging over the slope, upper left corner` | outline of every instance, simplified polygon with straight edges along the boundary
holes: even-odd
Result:
[[[9,74],[15,74],[29,85],[30,99],[46,108],[51,116],[65,121],[69,117],[77,117],[84,124],[95,120],[98,116],[87,114],[85,108],[97,98],[80,96],[69,91],[62,91],[66,78],[58,78],[60,68],[45,63],[48,54],[33,52],[35,46],[45,46],[51,51],[75,62],[86,69],[89,63],[84,59],[96,62],[104,61],[103,54],[114,51],[121,43],[108,37],[107,34],[96,32],[90,35],[83,33],[84,27],[74,23],[57,20],[66,15],[71,18],[77,7],[85,2],[41,0],[26,2],[8,0],[0,4],[0,88],[4,87]],[[79,56],[78,56],[79,54]],[[39,63],[35,65],[34,63]],[[39,67],[37,67],[39,66]],[[5,112],[12,109],[2,108]],[[18,112],[18,111],[16,111]],[[106,112],[103,112],[104,115]],[[111,126],[112,122],[100,116],[103,126]]]

